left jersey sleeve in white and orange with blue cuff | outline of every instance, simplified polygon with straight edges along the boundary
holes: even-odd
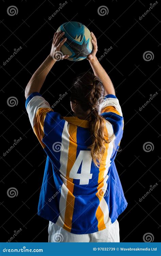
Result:
[[[47,113],[53,110],[50,108],[49,103],[41,96],[40,93],[32,93],[26,99],[25,107],[29,115],[31,126],[38,138],[40,144],[44,148],[45,145],[42,142],[44,137],[44,120]]]

